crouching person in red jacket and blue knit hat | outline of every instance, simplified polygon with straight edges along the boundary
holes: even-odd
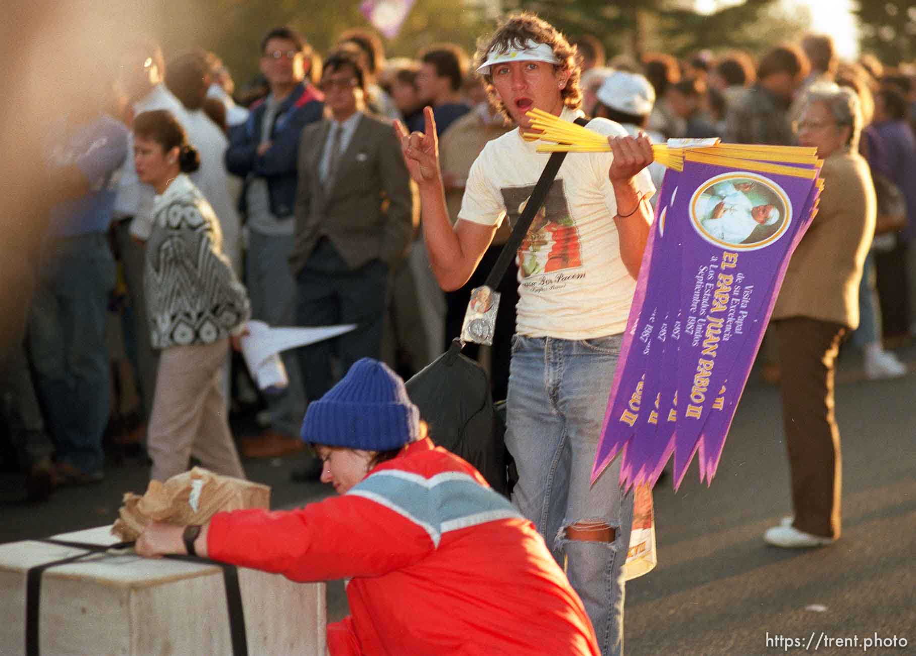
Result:
[[[137,552],[191,551],[301,582],[350,578],[352,614],[328,626],[334,656],[599,653],[534,526],[431,443],[387,366],[355,363],[309,405],[302,439],[340,497],[218,513],[196,537],[195,527],[153,524]]]

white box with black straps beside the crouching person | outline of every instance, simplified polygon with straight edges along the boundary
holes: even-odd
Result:
[[[109,527],[55,539],[114,544]],[[26,653],[26,573],[85,550],[41,541],[0,544],[0,654]],[[325,586],[238,568],[251,656],[325,653]],[[149,560],[133,552],[93,554],[41,579],[42,656],[231,656],[222,568]]]

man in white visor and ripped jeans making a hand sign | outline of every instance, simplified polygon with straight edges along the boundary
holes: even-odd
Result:
[[[398,135],[420,186],[423,231],[443,289],[470,278],[496,227],[518,220],[549,159],[523,137],[529,110],[582,115],[575,50],[531,14],[510,16],[477,53],[488,93],[519,126],[474,162],[452,227],[442,191],[435,125]],[[519,297],[507,398],[506,443],[518,466],[513,502],[559,557],[605,654],[623,651],[624,557],[634,493],[619,472],[594,484],[592,464],[627,312],[649,236],[652,149],[607,119],[588,127],[606,152],[563,161],[540,218],[518,252]],[[613,154],[612,154],[613,152]],[[612,465],[612,469],[613,469]],[[619,465],[616,465],[619,466]]]

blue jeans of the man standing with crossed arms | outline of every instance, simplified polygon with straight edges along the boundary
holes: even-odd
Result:
[[[291,236],[263,235],[249,230],[245,286],[251,318],[273,326],[295,325],[296,279],[289,269]],[[284,435],[298,436],[305,416],[305,388],[295,350],[280,354],[289,384],[278,394],[265,394],[270,425]]]

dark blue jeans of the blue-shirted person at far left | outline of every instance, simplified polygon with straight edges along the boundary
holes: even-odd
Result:
[[[50,238],[43,246],[29,323],[38,395],[58,460],[90,474],[104,461],[112,289],[114,257],[103,233]]]

